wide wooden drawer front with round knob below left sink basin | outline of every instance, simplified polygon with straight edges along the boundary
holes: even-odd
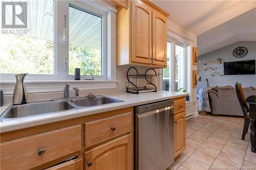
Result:
[[[81,150],[81,125],[1,143],[1,169],[30,169]]]

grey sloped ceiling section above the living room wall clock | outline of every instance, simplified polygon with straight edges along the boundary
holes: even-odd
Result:
[[[256,41],[256,8],[198,35],[198,55],[238,41]]]

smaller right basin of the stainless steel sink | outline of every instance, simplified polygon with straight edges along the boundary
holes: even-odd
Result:
[[[90,107],[90,106],[98,106],[98,105],[122,102],[117,99],[108,98],[100,95],[95,96],[95,98],[77,98],[77,99],[72,99],[70,101],[80,107]]]

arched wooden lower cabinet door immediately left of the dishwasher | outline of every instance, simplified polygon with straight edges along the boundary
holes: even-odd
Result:
[[[132,136],[124,135],[85,153],[87,170],[132,170]]]

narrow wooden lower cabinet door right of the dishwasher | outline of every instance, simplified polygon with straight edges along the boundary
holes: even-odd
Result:
[[[186,148],[186,114],[174,116],[174,155],[177,157]]]

